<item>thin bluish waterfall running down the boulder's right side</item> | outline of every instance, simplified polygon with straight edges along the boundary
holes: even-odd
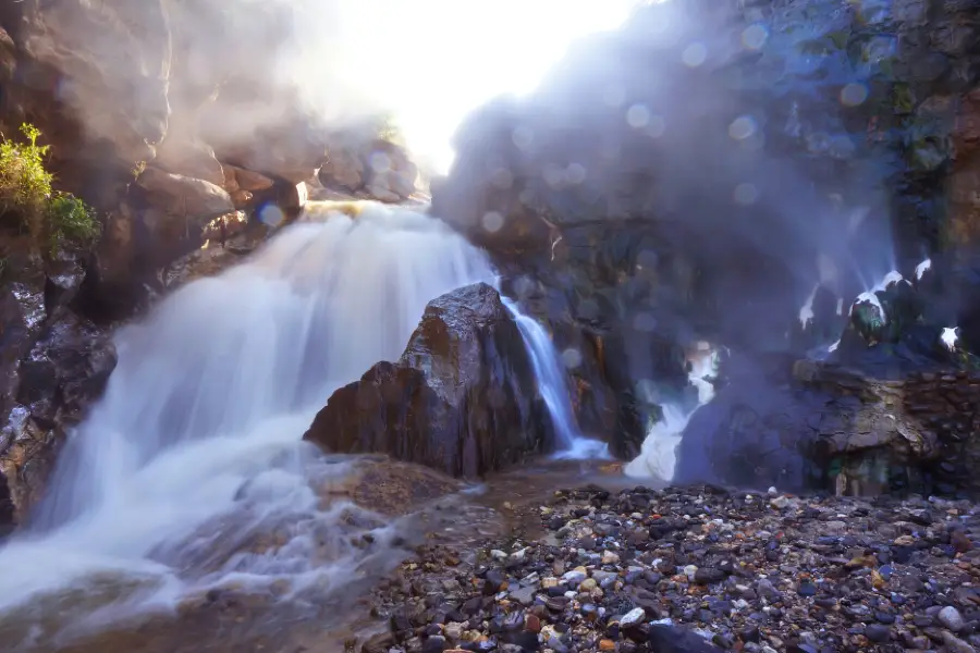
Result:
[[[584,438],[578,431],[568,395],[568,375],[548,332],[537,320],[522,313],[516,303],[503,295],[501,299],[514,316],[517,329],[524,336],[524,344],[538,380],[538,392],[548,406],[548,412],[558,433],[560,448],[555,457],[564,459],[609,457],[609,446],[605,443]]]

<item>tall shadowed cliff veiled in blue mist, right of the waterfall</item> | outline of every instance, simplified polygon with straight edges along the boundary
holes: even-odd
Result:
[[[678,350],[799,358],[836,337],[796,337],[818,283],[834,315],[896,262],[975,260],[978,36],[968,2],[650,3],[475,113],[432,211],[616,398],[596,428],[625,454],[686,383]],[[977,323],[954,304],[947,324]]]

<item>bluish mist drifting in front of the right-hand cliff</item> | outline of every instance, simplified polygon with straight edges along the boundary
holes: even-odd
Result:
[[[657,276],[671,283],[671,258],[687,259],[713,307],[706,319],[703,308],[656,303],[684,340],[786,348],[816,284],[849,306],[896,266],[911,275],[921,259],[897,256],[892,233],[902,162],[869,151],[862,130],[882,93],[875,71],[808,53],[834,25],[808,25],[792,8],[755,21],[752,11],[746,21],[736,3],[673,0],[581,39],[536,93],[463,125],[466,161],[437,211],[483,242],[504,237],[506,225],[480,226],[486,211],[513,211],[494,204],[504,180],[562,229],[608,221],[612,237],[622,221],[648,221],[662,243],[647,256]],[[616,264],[626,272],[628,261]]]

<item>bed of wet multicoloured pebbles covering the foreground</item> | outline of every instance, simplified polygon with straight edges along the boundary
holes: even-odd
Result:
[[[975,651],[976,507],[711,486],[559,491],[542,537],[431,544],[364,653]]]

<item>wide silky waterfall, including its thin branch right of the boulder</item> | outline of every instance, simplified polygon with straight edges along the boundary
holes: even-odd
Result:
[[[90,621],[229,582],[343,587],[371,562],[352,530],[380,543],[394,532],[350,503],[324,504],[350,458],[301,435],[333,390],[401,356],[429,300],[493,279],[441,222],[367,205],[356,219],[286,227],[120,330],[105,397],[65,445],[30,528],[0,550],[0,618],[107,581],[119,596],[106,614],[77,608]],[[547,333],[509,307],[567,455],[600,454],[577,433]]]

